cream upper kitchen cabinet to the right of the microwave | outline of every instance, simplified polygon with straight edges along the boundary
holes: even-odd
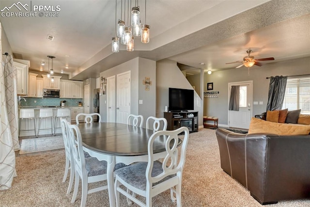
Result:
[[[83,81],[61,80],[60,97],[63,98],[83,98]]]

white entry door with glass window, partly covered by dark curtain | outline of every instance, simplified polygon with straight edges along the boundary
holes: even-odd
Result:
[[[252,83],[252,81],[245,81],[228,84],[229,97],[231,93],[231,87],[233,85],[240,86],[239,111],[228,110],[229,127],[248,129],[252,117]]]

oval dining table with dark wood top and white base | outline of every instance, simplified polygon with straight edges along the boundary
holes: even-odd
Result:
[[[116,163],[129,165],[134,162],[148,161],[148,140],[153,130],[134,127],[127,124],[95,122],[77,124],[83,141],[83,149],[90,156],[106,160],[107,182],[110,207],[115,207],[114,167]],[[161,159],[166,156],[166,136],[155,139],[154,157]],[[178,146],[182,140],[179,139]],[[172,143],[171,143],[172,144]]]

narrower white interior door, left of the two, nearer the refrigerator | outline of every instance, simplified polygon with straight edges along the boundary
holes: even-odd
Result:
[[[116,122],[115,96],[115,76],[111,76],[107,83],[107,122]]]

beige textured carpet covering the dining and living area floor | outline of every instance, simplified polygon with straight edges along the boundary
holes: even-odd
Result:
[[[68,179],[62,183],[64,151],[42,152],[40,155],[16,158],[17,177],[12,188],[0,191],[0,207],[78,207],[66,195]],[[262,207],[250,193],[220,168],[215,130],[201,129],[191,133],[186,151],[182,183],[183,207]],[[109,207],[107,191],[89,194],[89,207]],[[126,207],[121,195],[121,206]],[[176,207],[170,191],[155,196],[154,207]],[[310,200],[280,201],[270,207],[310,207]],[[136,204],[133,207],[137,207]]]

